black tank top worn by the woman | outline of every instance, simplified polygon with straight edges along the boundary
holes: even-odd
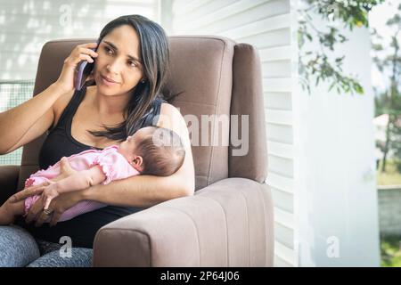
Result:
[[[78,142],[71,135],[72,118],[78,110],[79,104],[84,99],[85,94],[86,87],[82,88],[80,91],[76,91],[65,110],[63,110],[57,125],[49,130],[39,152],[39,167],[41,169],[46,169],[55,164],[64,156],[68,157],[72,154],[90,149],[101,150]],[[156,123],[153,118],[160,115],[162,102],[164,101],[158,97],[152,103],[150,110],[141,122],[141,127],[153,126]],[[76,216],[69,221],[60,222],[53,227],[49,227],[48,224],[43,224],[41,227],[37,228],[34,224],[25,224],[24,218],[22,217],[18,219],[17,224],[29,230],[29,232],[40,240],[58,243],[62,236],[69,236],[72,240],[73,247],[92,248],[94,235],[103,225],[140,210],[143,210],[143,208],[107,206]]]

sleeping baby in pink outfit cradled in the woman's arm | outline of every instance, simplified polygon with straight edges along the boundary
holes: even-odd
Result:
[[[119,145],[102,151],[89,150],[71,155],[68,158],[70,166],[78,171],[73,175],[60,176],[60,161],[30,175],[25,187],[44,182],[49,185],[44,186],[41,195],[16,203],[4,203],[0,207],[0,224],[12,224],[17,216],[27,215],[37,199],[43,199],[46,211],[52,199],[62,192],[84,190],[92,185],[107,184],[139,174],[172,175],[182,166],[184,156],[184,146],[178,134],[158,126],[143,127]],[[60,222],[105,206],[91,200],[78,202],[61,215]],[[49,221],[50,218],[46,222]]]

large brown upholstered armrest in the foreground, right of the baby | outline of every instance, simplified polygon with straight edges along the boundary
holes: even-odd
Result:
[[[94,266],[272,266],[266,184],[228,178],[103,226]]]

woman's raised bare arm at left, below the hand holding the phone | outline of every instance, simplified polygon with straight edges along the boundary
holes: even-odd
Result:
[[[31,142],[52,126],[53,104],[64,91],[52,84],[40,94],[10,110],[0,113],[0,154]]]

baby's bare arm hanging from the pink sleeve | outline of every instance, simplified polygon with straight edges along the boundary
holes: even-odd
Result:
[[[102,168],[96,165],[46,186],[42,193],[42,198],[45,199],[45,209],[49,208],[52,199],[59,194],[84,190],[90,186],[102,183],[104,179],[106,179],[106,176],[102,172]]]

